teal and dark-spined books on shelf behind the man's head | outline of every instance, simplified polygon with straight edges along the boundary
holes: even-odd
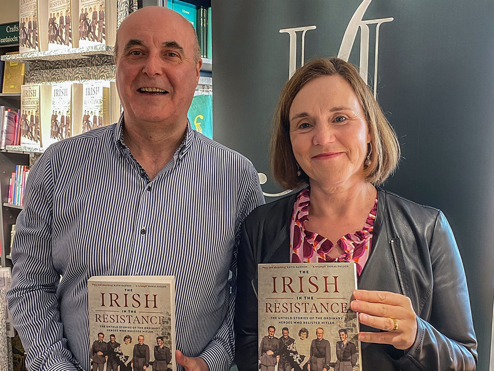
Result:
[[[168,8],[182,14],[196,29],[202,58],[212,58],[211,7],[196,6],[185,1],[168,0]]]

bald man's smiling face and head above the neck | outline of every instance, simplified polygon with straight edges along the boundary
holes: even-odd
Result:
[[[116,61],[125,124],[185,124],[202,65],[194,63],[194,40],[187,20],[163,7],[148,6],[125,19]]]

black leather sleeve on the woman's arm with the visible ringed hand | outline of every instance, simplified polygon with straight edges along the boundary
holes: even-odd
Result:
[[[477,340],[463,264],[453,232],[441,211],[430,243],[433,285],[430,320],[417,316],[417,336],[402,358],[402,370],[472,371]]]

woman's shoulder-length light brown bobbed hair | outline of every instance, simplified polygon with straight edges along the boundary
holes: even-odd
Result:
[[[307,175],[297,167],[291,147],[288,117],[291,103],[295,95],[309,81],[332,75],[341,76],[350,84],[369,125],[371,163],[364,169],[365,180],[374,185],[382,184],[398,165],[400,144],[396,133],[355,66],[335,57],[312,59],[298,68],[284,85],[273,118],[270,143],[271,168],[275,179],[285,189],[295,189],[309,183]]]

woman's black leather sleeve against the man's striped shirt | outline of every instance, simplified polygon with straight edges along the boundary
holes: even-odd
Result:
[[[235,304],[236,361],[239,371],[256,371],[257,347],[257,264],[245,225],[238,248],[237,298]],[[252,303],[255,303],[253,305]],[[259,352],[258,352],[259,351]]]

